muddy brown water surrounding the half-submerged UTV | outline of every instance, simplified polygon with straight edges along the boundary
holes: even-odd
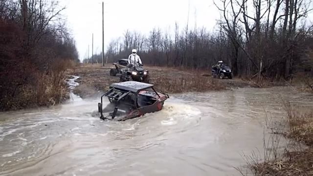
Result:
[[[171,95],[164,109],[125,122],[99,119],[97,99],[0,113],[0,175],[237,176],[242,154],[263,151],[265,111],[285,116],[290,88]]]

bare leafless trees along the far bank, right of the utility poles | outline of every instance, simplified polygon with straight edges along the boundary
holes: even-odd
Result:
[[[149,65],[210,69],[223,60],[235,75],[288,80],[313,66],[313,26],[305,23],[310,5],[310,0],[222,0],[216,4],[222,19],[213,33],[178,24],[174,35],[156,28],[148,36],[126,31],[110,43],[106,56],[125,58],[136,48]]]

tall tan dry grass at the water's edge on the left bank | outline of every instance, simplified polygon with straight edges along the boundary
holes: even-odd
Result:
[[[25,69],[25,78],[28,81],[15,87],[13,94],[8,94],[1,100],[0,110],[50,106],[67,100],[69,91],[65,82],[65,71],[74,65],[72,61],[61,60],[54,62],[49,71]]]

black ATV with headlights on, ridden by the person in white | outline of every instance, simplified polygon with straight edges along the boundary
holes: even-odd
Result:
[[[120,82],[125,81],[137,81],[143,83],[149,83],[149,71],[145,70],[142,66],[130,65],[129,68],[121,69]]]

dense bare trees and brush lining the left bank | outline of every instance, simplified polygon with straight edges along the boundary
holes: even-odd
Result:
[[[0,0],[0,110],[67,97],[64,71],[79,62],[54,0]]]

